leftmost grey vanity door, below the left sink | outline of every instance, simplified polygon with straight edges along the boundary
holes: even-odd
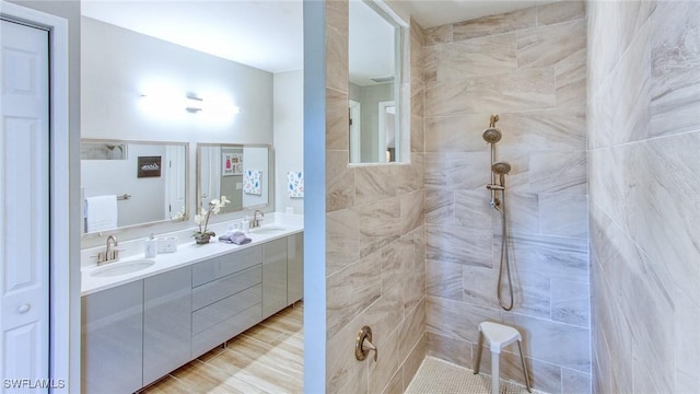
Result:
[[[81,299],[82,392],[133,393],[143,386],[143,280]]]

